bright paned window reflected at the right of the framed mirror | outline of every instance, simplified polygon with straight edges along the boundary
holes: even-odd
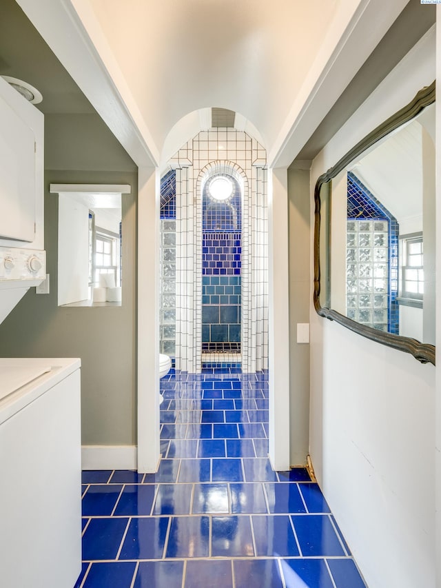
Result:
[[[424,294],[422,233],[400,238],[401,280],[400,296],[422,301]]]

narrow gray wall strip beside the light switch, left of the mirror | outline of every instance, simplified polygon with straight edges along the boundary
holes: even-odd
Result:
[[[291,465],[306,465],[309,453],[309,345],[297,343],[297,323],[309,323],[309,169],[295,169],[294,165],[288,170],[290,460]]]

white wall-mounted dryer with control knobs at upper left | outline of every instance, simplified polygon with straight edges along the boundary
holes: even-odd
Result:
[[[43,114],[0,77],[0,323],[45,278]]]

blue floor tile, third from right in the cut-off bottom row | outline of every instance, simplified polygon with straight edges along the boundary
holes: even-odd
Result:
[[[234,560],[233,568],[236,588],[283,588],[277,560]]]

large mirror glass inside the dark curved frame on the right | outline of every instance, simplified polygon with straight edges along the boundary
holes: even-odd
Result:
[[[435,344],[435,105],[320,187],[320,305]]]

